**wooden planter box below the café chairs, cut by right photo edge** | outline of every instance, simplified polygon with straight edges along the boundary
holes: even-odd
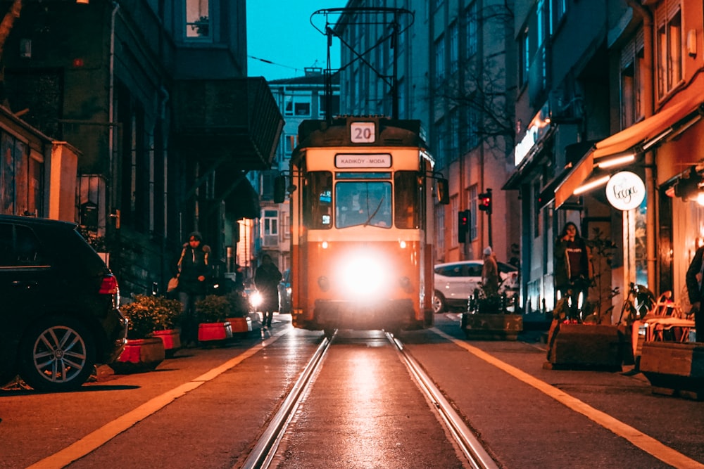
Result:
[[[704,343],[644,342],[640,369],[655,394],[704,400]]]

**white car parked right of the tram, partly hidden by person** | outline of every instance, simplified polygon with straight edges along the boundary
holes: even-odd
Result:
[[[497,262],[501,276],[501,293],[513,297],[518,293],[518,269],[505,262]],[[435,292],[433,312],[441,313],[448,309],[467,310],[467,300],[482,282],[484,260],[448,262],[435,266]]]

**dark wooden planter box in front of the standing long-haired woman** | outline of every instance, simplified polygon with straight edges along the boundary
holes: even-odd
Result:
[[[620,371],[621,342],[617,326],[558,323],[548,336],[548,361],[543,368],[605,368]]]

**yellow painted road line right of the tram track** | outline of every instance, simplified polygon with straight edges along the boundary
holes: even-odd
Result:
[[[580,401],[576,397],[570,396],[570,394],[567,394],[566,392],[558,389],[557,387],[548,385],[548,383],[545,383],[544,381],[541,381],[538,378],[535,378],[534,376],[529,375],[528,373],[525,373],[524,371],[521,371],[518,368],[515,368],[515,366],[511,366],[505,363],[504,361],[497,359],[495,356],[484,352],[482,349],[472,347],[472,345],[467,344],[467,342],[455,339],[437,328],[432,328],[431,330],[437,335],[440,335],[441,337],[446,338],[447,340],[455,342],[455,344],[467,350],[467,352],[470,352],[474,356],[477,356],[477,358],[486,361],[486,363],[496,366],[496,368],[499,368],[505,371],[506,373],[512,375],[514,378],[521,380],[523,383],[526,383],[527,385],[536,388],[536,390],[547,394],[549,397],[552,397],[553,399],[560,402],[561,404],[564,404],[573,411],[581,413],[582,415],[601,425],[603,428],[606,428],[607,430],[610,430],[611,432],[615,433],[617,436],[627,439],[629,442],[631,442],[635,446],[638,446],[643,451],[646,451],[647,453],[655,456],[655,458],[660,459],[660,461],[670,464],[675,468],[704,469],[704,464],[695,461],[692,458],[685,456],[684,454],[681,454],[679,451],[670,448],[670,446],[662,444],[653,437],[645,435],[640,430],[636,430],[636,428],[633,428],[630,425],[627,425],[622,421],[613,418],[612,416],[608,415],[608,413],[604,413],[602,411],[594,409],[589,404]]]

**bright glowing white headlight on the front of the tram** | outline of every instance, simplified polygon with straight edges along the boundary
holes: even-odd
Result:
[[[359,256],[340,266],[341,286],[355,300],[379,297],[386,289],[389,272],[382,259]]]

